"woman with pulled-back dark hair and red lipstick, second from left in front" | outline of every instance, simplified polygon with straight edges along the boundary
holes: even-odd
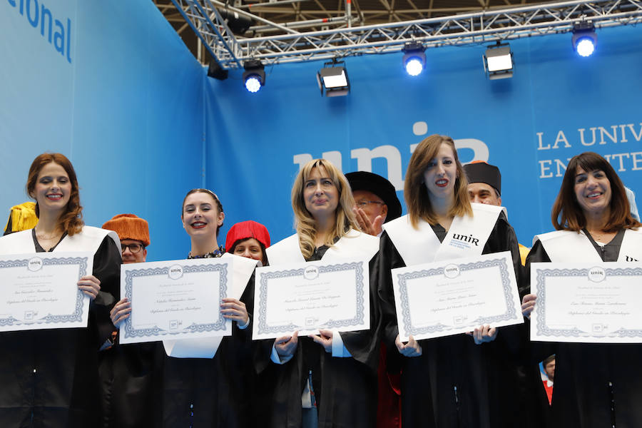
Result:
[[[225,213],[218,196],[208,189],[190,190],[183,199],[180,215],[190,236],[188,259],[233,257],[218,244],[218,232]],[[234,269],[239,269],[234,263]],[[250,279],[253,267],[245,269]],[[158,346],[156,421],[154,427],[248,427],[252,370],[250,315],[254,298],[250,280],[240,299],[223,298],[223,317],[233,320],[232,336],[223,337],[213,358],[171,357],[165,344]],[[130,316],[131,303],[123,299],[112,311],[118,326]],[[180,340],[202,345],[204,340]]]

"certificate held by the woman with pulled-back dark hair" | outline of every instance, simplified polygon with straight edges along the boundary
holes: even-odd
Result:
[[[121,265],[121,297],[131,302],[121,343],[231,335],[220,303],[230,291],[232,263],[206,258]]]

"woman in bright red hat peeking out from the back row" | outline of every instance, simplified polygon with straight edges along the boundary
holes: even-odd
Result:
[[[260,260],[267,266],[265,248],[270,246],[270,233],[261,223],[252,220],[236,223],[225,237],[225,248],[228,253]]]

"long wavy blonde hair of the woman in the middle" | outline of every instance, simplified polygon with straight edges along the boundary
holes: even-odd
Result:
[[[295,214],[295,229],[299,235],[299,247],[303,257],[310,258],[315,252],[315,238],[317,236],[317,228],[315,218],[312,217],[310,211],[305,208],[305,200],[303,198],[303,188],[305,182],[310,178],[314,168],[325,168],[328,178],[339,191],[339,203],[335,210],[335,228],[332,234],[326,238],[325,245],[332,246],[333,240],[336,237],[341,238],[347,233],[350,228],[359,229],[355,213],[352,212],[352,207],[355,206],[355,199],[352,198],[352,190],[350,183],[348,183],[345,175],[330,161],[325,159],[314,159],[301,168],[297,178],[295,178],[294,185],[292,186],[292,210]]]

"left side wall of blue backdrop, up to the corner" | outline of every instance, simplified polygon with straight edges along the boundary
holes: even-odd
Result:
[[[78,174],[88,225],[135,213],[150,223],[150,260],[184,258],[180,201],[203,185],[198,61],[151,1],[23,0],[22,14],[12,3],[0,1],[3,228],[9,208],[28,200],[31,161],[60,152]],[[49,14],[69,55],[54,34],[49,43]]]

